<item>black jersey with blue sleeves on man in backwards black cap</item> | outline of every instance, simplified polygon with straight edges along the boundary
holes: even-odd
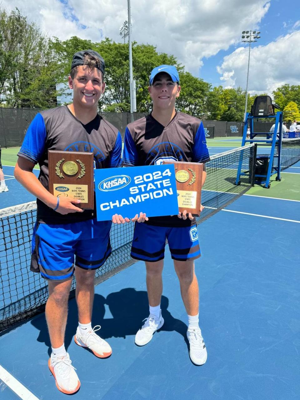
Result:
[[[88,124],[82,124],[67,106],[40,112],[32,120],[18,156],[39,164],[38,179],[48,190],[48,150],[94,153],[94,168],[114,168],[122,164],[122,138],[117,128],[98,114]],[[51,224],[88,220],[96,210],[84,210],[62,215],[37,199],[37,218]]]

